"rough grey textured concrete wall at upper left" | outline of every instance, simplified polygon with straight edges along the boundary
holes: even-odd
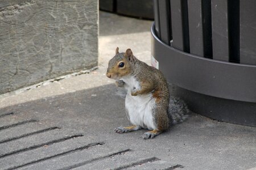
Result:
[[[98,2],[0,1],[0,94],[97,65]]]

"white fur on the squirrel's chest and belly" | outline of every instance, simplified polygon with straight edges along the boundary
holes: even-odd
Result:
[[[141,126],[150,130],[157,129],[152,112],[155,107],[155,99],[152,94],[131,96],[131,90],[135,87],[139,90],[139,83],[134,78],[122,79],[128,86],[125,98],[125,108],[133,125]]]

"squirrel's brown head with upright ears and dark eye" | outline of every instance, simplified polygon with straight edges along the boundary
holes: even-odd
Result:
[[[131,49],[127,49],[125,53],[119,53],[119,48],[115,49],[115,56],[110,59],[106,76],[112,79],[120,79],[123,76],[131,74],[133,64],[136,58],[133,56]]]

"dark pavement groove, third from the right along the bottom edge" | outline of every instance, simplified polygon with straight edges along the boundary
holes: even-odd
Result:
[[[130,149],[126,149],[126,150],[122,150],[122,151],[119,151],[119,152],[114,152],[113,154],[109,154],[109,155],[105,155],[105,156],[100,156],[98,158],[94,158],[94,159],[91,159],[91,160],[86,160],[85,162],[77,163],[75,165],[71,165],[69,167],[61,168],[61,169],[58,169],[58,170],[68,170],[68,169],[73,169],[73,168],[81,167],[82,165],[92,163],[92,162],[94,162],[96,160],[101,160],[101,159],[105,159],[105,158],[112,158],[115,155],[122,155],[122,154],[124,154],[126,152],[130,152],[130,151],[131,151]]]

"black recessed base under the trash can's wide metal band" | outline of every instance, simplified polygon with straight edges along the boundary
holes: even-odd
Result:
[[[256,126],[256,103],[221,99],[170,85],[170,94],[180,97],[192,112],[232,124]]]

